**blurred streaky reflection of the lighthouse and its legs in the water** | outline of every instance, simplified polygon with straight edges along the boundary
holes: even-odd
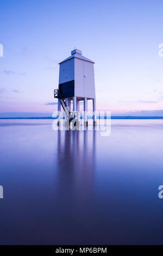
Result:
[[[92,190],[95,172],[96,131],[58,130],[58,178],[65,182],[70,193],[73,189],[87,196]],[[62,184],[63,185],[63,184]]]

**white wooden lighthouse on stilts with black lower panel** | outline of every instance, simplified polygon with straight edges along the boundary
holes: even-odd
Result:
[[[73,50],[71,56],[59,63],[59,88],[54,90],[58,97],[58,111],[61,106],[69,111],[80,111],[80,101],[84,101],[84,124],[87,126],[87,100],[92,100],[93,113],[96,111],[94,63],[82,55],[82,51]],[[71,109],[73,101],[73,109]],[[66,111],[65,111],[66,112]],[[96,125],[96,115],[93,114],[93,124]]]

